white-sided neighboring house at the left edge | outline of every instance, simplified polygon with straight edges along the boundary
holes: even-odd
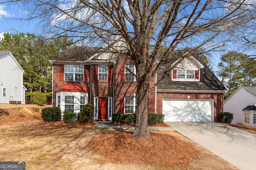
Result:
[[[10,51],[0,51],[0,103],[25,104],[24,70]]]

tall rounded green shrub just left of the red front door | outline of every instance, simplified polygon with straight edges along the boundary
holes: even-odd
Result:
[[[84,105],[84,108],[80,112],[79,115],[79,121],[80,122],[88,122],[93,121],[93,105],[91,102],[88,102],[86,105]]]

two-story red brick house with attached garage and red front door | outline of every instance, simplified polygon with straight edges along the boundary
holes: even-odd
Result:
[[[92,102],[96,120],[111,120],[113,113],[136,111],[136,68],[130,60],[112,57],[96,47],[69,47],[50,61],[53,106],[79,112]],[[168,64],[152,78],[151,86]],[[188,55],[150,90],[148,112],[165,114],[165,121],[218,121],[225,90],[206,64]]]

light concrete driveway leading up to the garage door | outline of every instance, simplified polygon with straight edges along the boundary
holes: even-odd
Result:
[[[241,170],[256,169],[256,134],[212,122],[164,122]]]

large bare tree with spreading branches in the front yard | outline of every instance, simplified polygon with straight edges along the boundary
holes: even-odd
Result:
[[[14,2],[12,0],[10,2]],[[147,137],[149,82],[177,49],[218,50],[254,41],[255,0],[24,0],[27,19],[40,19],[44,33],[81,45],[100,45],[120,35],[126,53],[111,50],[136,66],[135,137]],[[7,2],[6,2],[7,3]],[[246,37],[246,38],[241,38]],[[109,44],[111,45],[111,44]],[[164,51],[161,47],[165,47]],[[161,51],[161,53],[159,53]],[[158,63],[154,66],[154,63]],[[166,69],[166,74],[172,68]]]

